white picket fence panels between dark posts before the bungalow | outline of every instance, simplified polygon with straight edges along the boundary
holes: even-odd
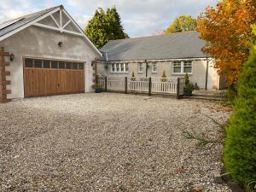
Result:
[[[181,79],[180,79],[181,80]],[[98,84],[105,88],[105,77],[98,77]],[[183,80],[182,80],[183,82]],[[127,91],[145,93],[148,92],[149,79],[127,79]],[[108,78],[107,90],[125,91],[125,78]],[[179,86],[179,91],[183,92],[183,85]],[[151,79],[152,94],[177,94],[177,79]]]

